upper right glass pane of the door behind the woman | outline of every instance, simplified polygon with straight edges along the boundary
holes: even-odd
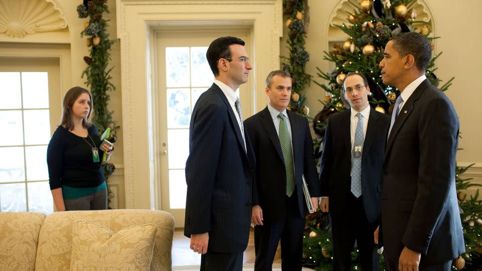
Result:
[[[49,108],[49,75],[47,72],[23,72],[24,108]]]

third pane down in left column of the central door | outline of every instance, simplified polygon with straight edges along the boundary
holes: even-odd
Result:
[[[169,168],[183,169],[189,155],[189,129],[167,130]]]

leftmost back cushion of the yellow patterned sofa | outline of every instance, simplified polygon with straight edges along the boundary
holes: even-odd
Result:
[[[45,214],[0,213],[0,270],[34,270]]]

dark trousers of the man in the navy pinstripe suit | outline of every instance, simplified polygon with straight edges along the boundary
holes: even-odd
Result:
[[[201,255],[200,271],[242,271],[243,252],[222,253],[207,251]]]

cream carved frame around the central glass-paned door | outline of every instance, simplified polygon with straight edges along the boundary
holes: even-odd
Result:
[[[225,5],[236,6],[226,9]],[[255,109],[266,105],[266,74],[279,69],[280,37],[283,35],[282,0],[116,0],[117,37],[121,39],[122,107],[126,208],[154,208],[150,189],[159,154],[153,153],[146,133],[148,123],[148,36],[156,22],[249,22],[254,47],[253,91]],[[134,85],[135,84],[135,85]],[[258,93],[259,92],[259,93]],[[157,140],[157,139],[155,139]],[[154,161],[150,157],[153,153]],[[159,182],[160,180],[154,180]]]

